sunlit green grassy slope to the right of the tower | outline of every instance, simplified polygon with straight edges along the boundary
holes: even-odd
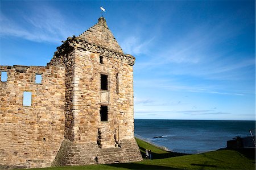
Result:
[[[237,151],[218,150],[197,155],[184,155],[159,150],[154,146],[137,139],[139,148],[144,155],[147,148],[153,152],[153,160],[144,160],[138,164],[161,165],[176,169],[255,169],[255,160],[248,159]],[[156,156],[154,156],[156,154]],[[157,156],[167,155],[166,159]],[[165,157],[165,156],[163,156]]]

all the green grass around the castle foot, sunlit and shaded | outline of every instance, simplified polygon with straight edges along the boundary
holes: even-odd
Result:
[[[255,169],[255,159],[249,159],[234,150],[218,150],[196,155],[164,151],[143,140],[136,139],[142,155],[151,150],[153,160],[105,165],[43,168],[51,170],[75,169]]]

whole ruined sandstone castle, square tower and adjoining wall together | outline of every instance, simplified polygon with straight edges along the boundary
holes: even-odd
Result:
[[[101,17],[57,47],[47,67],[0,66],[8,76],[0,81],[0,169],[142,160],[134,139],[134,61]],[[32,92],[31,106],[23,106],[23,92]]]

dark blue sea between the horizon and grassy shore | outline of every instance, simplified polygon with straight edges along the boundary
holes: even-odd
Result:
[[[236,136],[255,135],[255,121],[135,119],[135,136],[173,152],[199,154],[226,147]]]

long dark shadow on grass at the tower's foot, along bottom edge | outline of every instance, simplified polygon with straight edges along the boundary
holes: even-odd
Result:
[[[144,165],[136,163],[123,163],[123,164],[108,164],[110,167],[127,168],[127,169],[177,169],[171,167],[164,167],[159,165]]]

